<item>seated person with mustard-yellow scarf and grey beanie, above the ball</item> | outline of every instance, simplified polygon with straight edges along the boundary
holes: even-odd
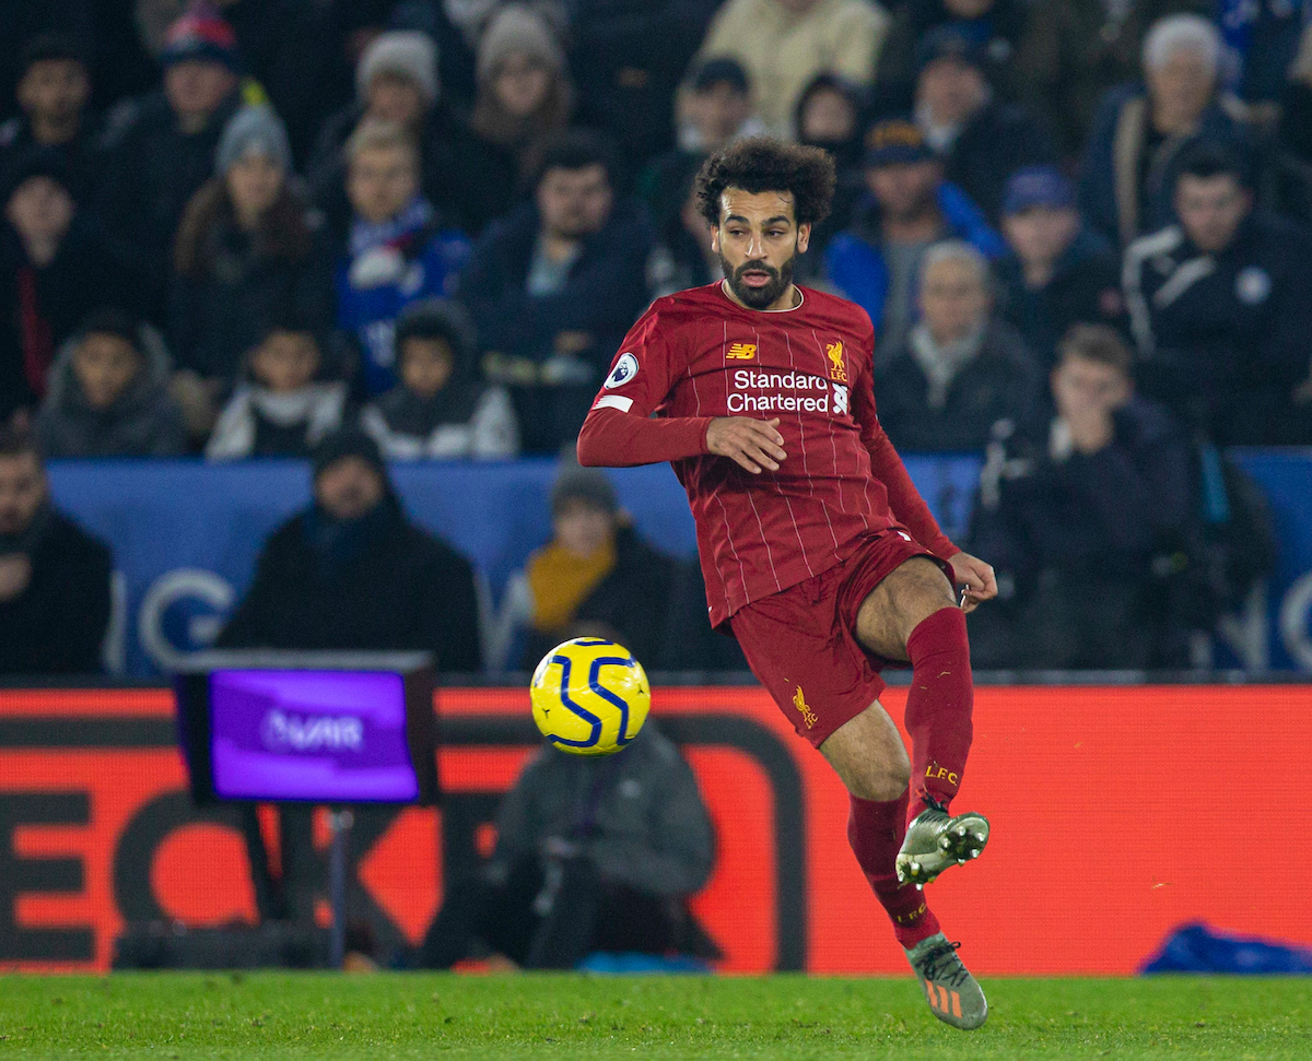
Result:
[[[551,488],[551,527],[506,588],[495,637],[501,661],[516,662],[505,656],[518,640],[518,666],[533,670],[548,648],[580,636],[659,658],[674,565],[630,526],[605,472],[564,466]]]

